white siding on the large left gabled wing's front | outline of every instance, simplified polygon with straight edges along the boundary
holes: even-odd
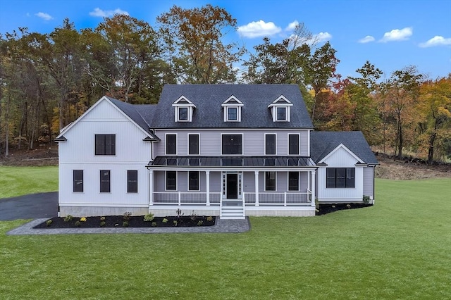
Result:
[[[148,204],[152,143],[109,101],[101,100],[63,132],[59,150],[60,206],[145,206]],[[116,135],[116,155],[95,155],[95,135]],[[73,170],[83,170],[83,192],[73,192]],[[111,192],[100,192],[100,170],[111,171]],[[138,192],[127,193],[127,170],[138,171]]]

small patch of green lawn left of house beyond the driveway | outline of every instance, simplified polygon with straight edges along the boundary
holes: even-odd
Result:
[[[58,191],[58,167],[0,166],[0,199]]]

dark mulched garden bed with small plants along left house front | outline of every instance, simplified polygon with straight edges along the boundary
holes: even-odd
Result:
[[[84,220],[85,219],[85,220]],[[51,220],[51,222],[50,222]],[[104,217],[69,218],[55,217],[33,228],[101,228],[101,227],[198,227],[215,225],[214,216],[171,216],[155,217],[144,221],[144,215],[106,215]]]

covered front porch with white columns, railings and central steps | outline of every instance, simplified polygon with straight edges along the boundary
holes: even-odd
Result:
[[[244,165],[243,158],[241,165],[227,165],[231,158],[226,159],[226,165],[199,158],[197,165],[181,158],[149,163],[149,211],[167,215],[180,208],[221,218],[314,215],[316,168],[309,158],[260,164],[254,158],[252,166]]]

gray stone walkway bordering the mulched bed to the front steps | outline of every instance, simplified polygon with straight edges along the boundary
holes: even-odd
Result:
[[[16,229],[6,232],[6,235],[67,235],[90,233],[240,233],[250,230],[249,217],[245,220],[221,220],[216,218],[214,226],[201,227],[135,227],[135,228],[61,228],[33,229],[36,225],[49,218],[32,220]]]

